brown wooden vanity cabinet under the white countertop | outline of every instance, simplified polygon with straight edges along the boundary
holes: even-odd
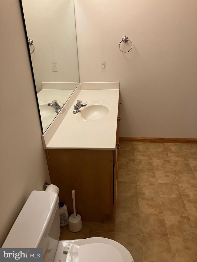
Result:
[[[116,144],[119,143],[119,120]],[[116,209],[118,146],[116,150],[46,149],[51,183],[60,201],[73,213],[71,192],[82,221],[104,222]]]

